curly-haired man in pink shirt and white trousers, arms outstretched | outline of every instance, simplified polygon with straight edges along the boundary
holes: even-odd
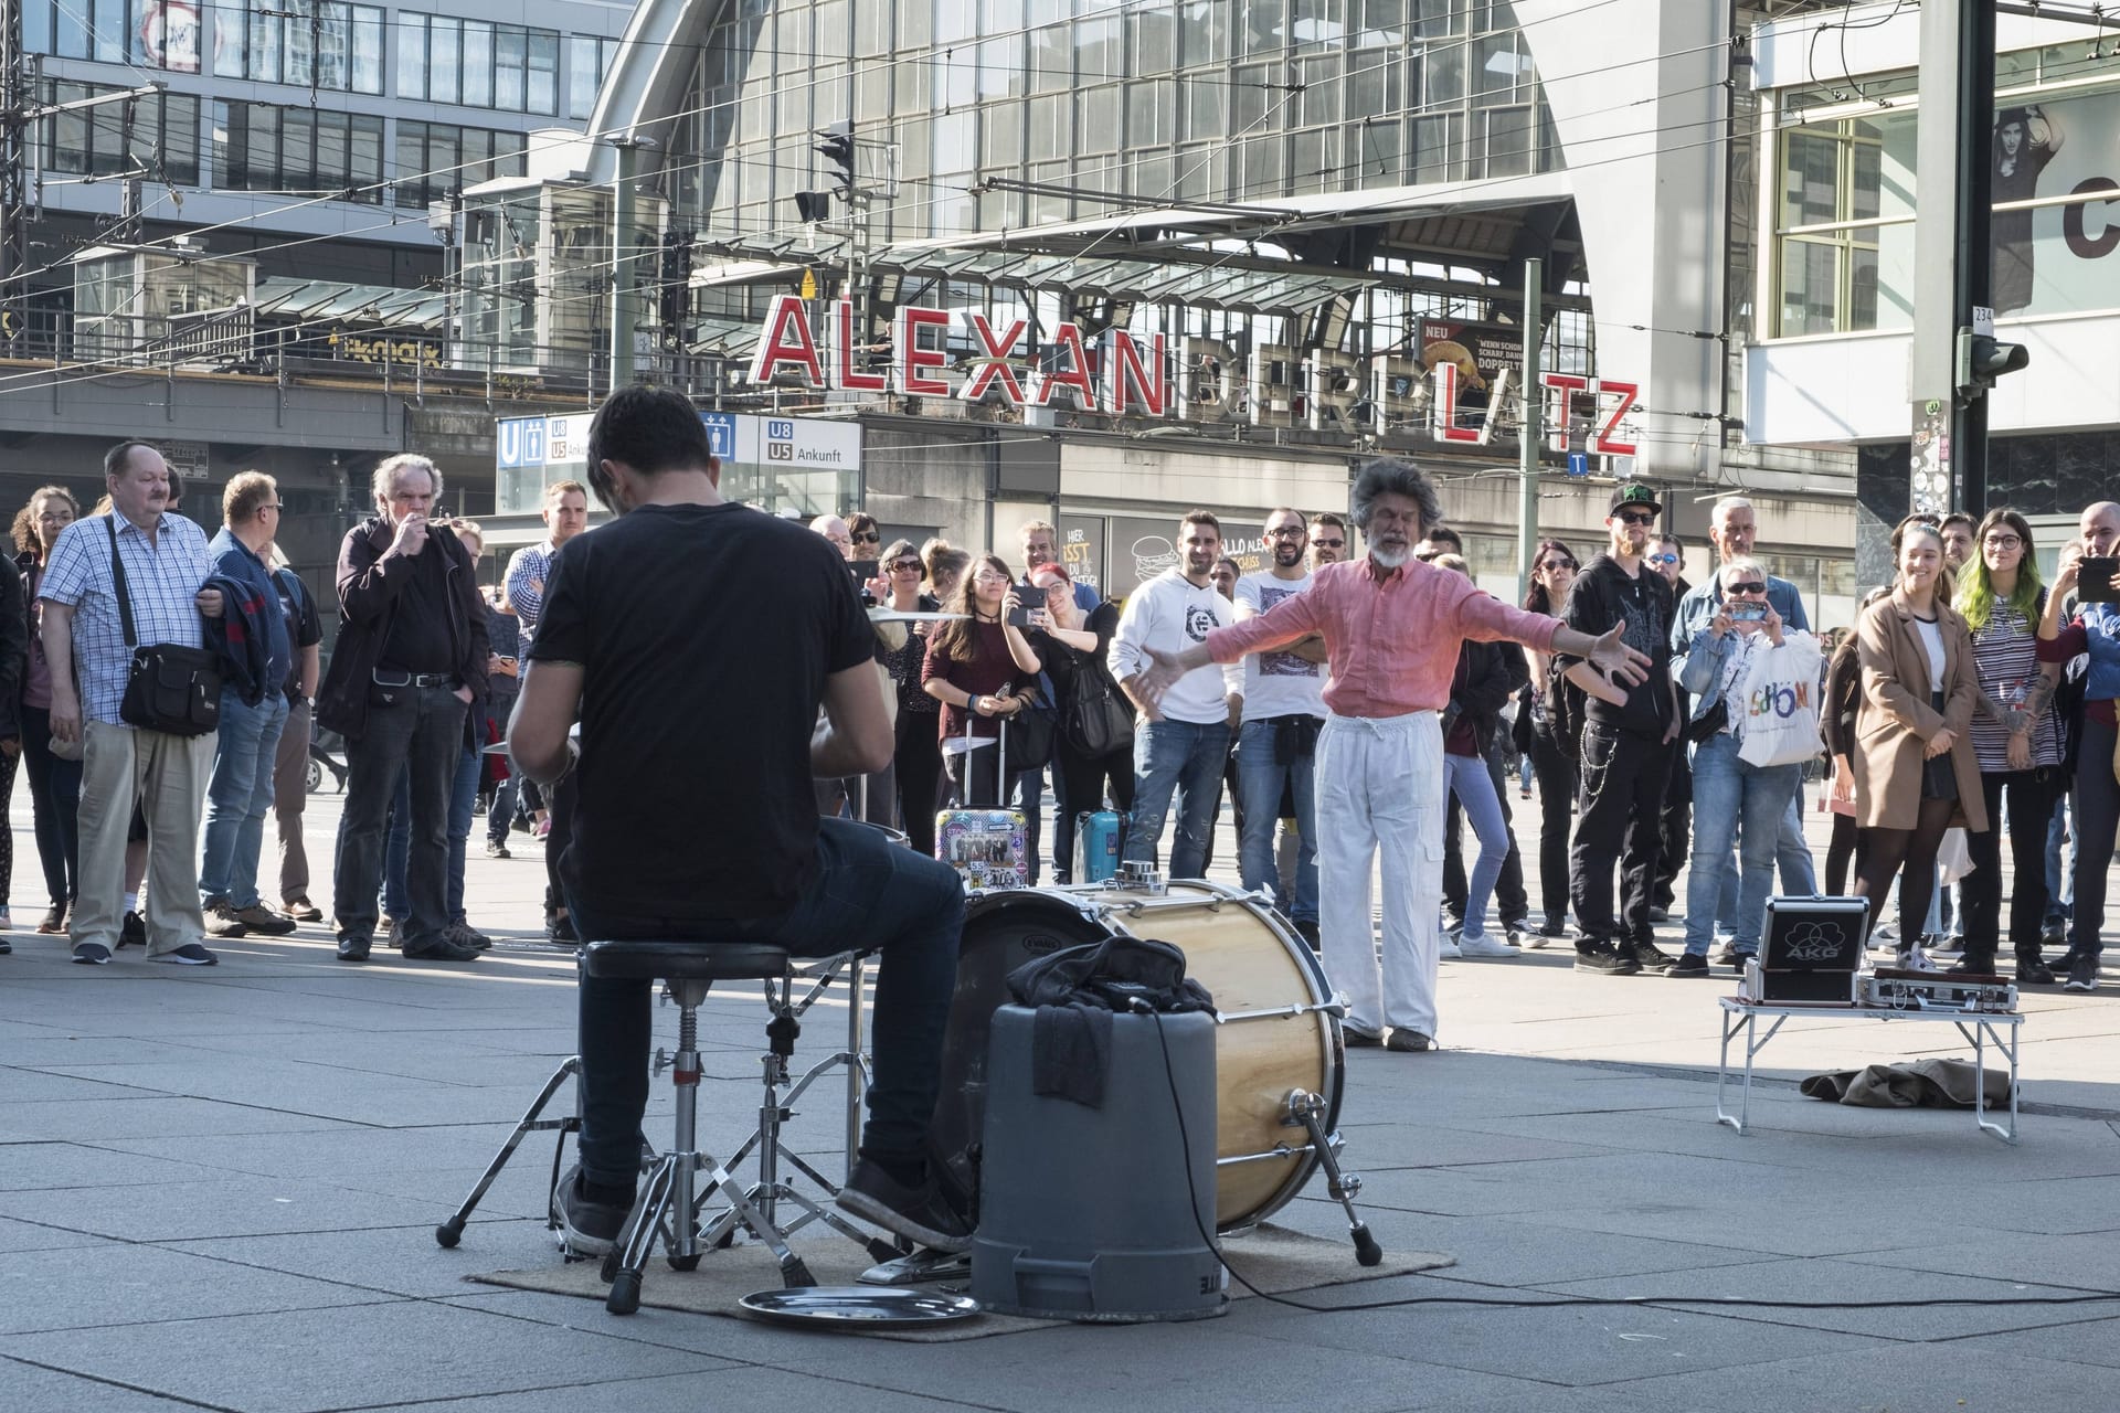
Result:
[[[1280,600],[1183,652],[1147,648],[1138,695],[1153,710],[1183,674],[1234,663],[1308,633],[1325,638],[1329,716],[1317,750],[1319,932],[1325,972],[1348,1004],[1346,1042],[1425,1051],[1435,1036],[1444,890],[1444,735],[1450,674],[1465,640],[1567,652],[1628,684],[1647,659],[1558,619],[1522,612],[1463,574],[1412,557],[1442,521],[1435,487],[1412,464],[1370,462],[1355,481],[1359,561],[1323,566],[1310,591]],[[1370,871],[1382,854],[1384,955],[1370,934]]]

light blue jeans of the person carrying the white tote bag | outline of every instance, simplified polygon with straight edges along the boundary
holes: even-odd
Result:
[[[1715,898],[1738,847],[1736,936],[1743,953],[1760,949],[1760,922],[1774,892],[1774,852],[1789,797],[1804,782],[1800,765],[1757,767],[1738,758],[1734,735],[1711,735],[1694,748],[1694,858],[1685,879],[1685,951],[1704,958],[1715,934]]]

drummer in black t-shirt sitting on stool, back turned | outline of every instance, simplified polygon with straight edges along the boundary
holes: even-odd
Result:
[[[869,1121],[837,1201],[924,1246],[967,1250],[969,1227],[924,1148],[962,886],[882,830],[818,820],[810,790],[890,761],[876,633],[846,559],[801,525],[723,500],[700,413],[664,388],[604,400],[589,483],[617,519],[560,551],[509,731],[532,780],[575,773],[560,860],[575,926],[589,941],[878,951]],[[649,1002],[647,981],[581,979],[581,1163],[553,1193],[577,1256],[606,1254],[634,1201]]]

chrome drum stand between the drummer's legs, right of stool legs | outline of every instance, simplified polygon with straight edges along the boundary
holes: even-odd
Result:
[[[825,970],[810,981],[810,989],[801,996],[801,1000],[795,1000],[793,977],[787,983],[774,983],[772,979],[765,981],[765,1004],[774,1010],[774,1019],[765,1025],[767,1051],[759,1057],[765,1080],[765,1093],[759,1099],[759,1127],[753,1129],[750,1138],[746,1138],[729,1159],[729,1167],[736,1169],[744,1165],[744,1159],[748,1159],[753,1150],[757,1150],[759,1180],[744,1188],[744,1201],[731,1201],[706,1227],[700,1227],[700,1216],[706,1203],[712,1201],[714,1188],[708,1186],[708,1191],[691,1203],[693,1227],[700,1229],[702,1246],[731,1244],[738,1231],[750,1224],[744,1214],[744,1203],[755,1205],[767,1224],[776,1224],[780,1203],[784,1201],[801,1210],[793,1222],[780,1227],[784,1235],[793,1235],[810,1222],[825,1222],[848,1241],[865,1248],[873,1260],[890,1260],[899,1254],[893,1244],[882,1237],[867,1235],[829,1205],[797,1191],[793,1186],[795,1174],[789,1174],[787,1178],[780,1176],[780,1163],[784,1159],[803,1178],[820,1186],[827,1201],[840,1195],[837,1182],[812,1167],[799,1152],[782,1148],[780,1125],[795,1116],[795,1099],[799,1099],[814,1080],[842,1063],[846,1066],[846,1165],[848,1174],[852,1174],[856,1150],[861,1146],[861,1095],[869,1078],[867,1059],[861,1055],[861,991],[865,955],[867,953],[856,951],[831,958]],[[852,1002],[848,1006],[846,1049],[816,1061],[799,1080],[791,1083],[789,1059],[795,1055],[795,1038],[801,1036],[801,1017],[831,987],[837,977],[840,962],[848,968]],[[655,1072],[661,1074],[661,1053],[657,1053],[655,1063]]]

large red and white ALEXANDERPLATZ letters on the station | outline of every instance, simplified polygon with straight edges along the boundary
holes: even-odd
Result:
[[[1509,400],[1520,371],[1480,362],[1463,326],[1425,322],[1414,354],[1376,354],[1367,360],[1338,350],[1297,350],[1255,343],[1249,356],[1221,339],[1170,341],[1121,328],[1085,337],[1064,320],[1043,341],[1030,339],[1030,320],[994,324],[979,311],[952,314],[899,305],[893,316],[890,362],[871,366],[856,358],[854,305],[825,305],[823,341],[810,326],[810,301],[778,294],[759,326],[750,381],[780,381],[816,390],[895,392],[907,398],[954,398],[1060,411],[1177,417],[1181,422],[1251,426],[1308,426],[1317,432],[1418,432],[1437,441],[1488,445],[1495,419]],[[969,333],[971,356],[952,354],[952,333]],[[1429,335],[1456,335],[1435,337]],[[1367,362],[1367,371],[1363,369]],[[956,381],[952,381],[956,373]],[[1539,386],[1558,403],[1548,415],[1552,445],[1569,451],[1571,417],[1588,415],[1588,451],[1635,455],[1622,417],[1639,388],[1579,373],[1543,373]]]

